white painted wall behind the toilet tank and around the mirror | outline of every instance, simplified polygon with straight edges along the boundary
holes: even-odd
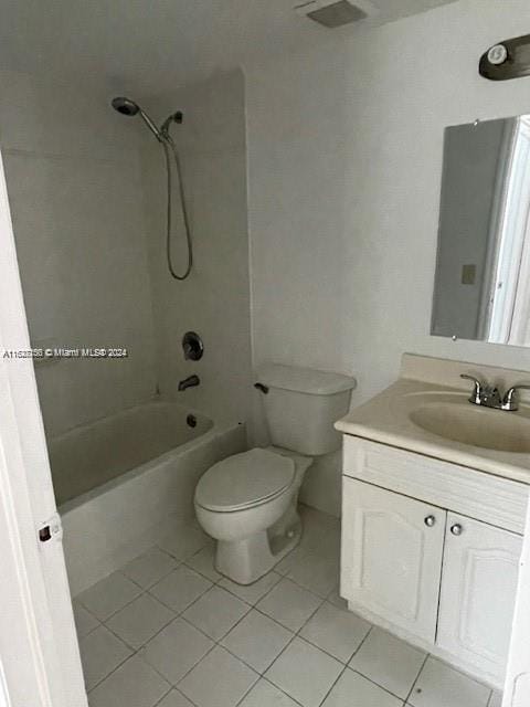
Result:
[[[530,78],[478,75],[481,53],[524,28],[527,0],[463,0],[246,66],[255,365],[354,373],[353,404],[403,351],[530,369],[528,350],[428,334],[443,131],[529,112]],[[310,499],[329,507],[337,486],[328,463]]]

